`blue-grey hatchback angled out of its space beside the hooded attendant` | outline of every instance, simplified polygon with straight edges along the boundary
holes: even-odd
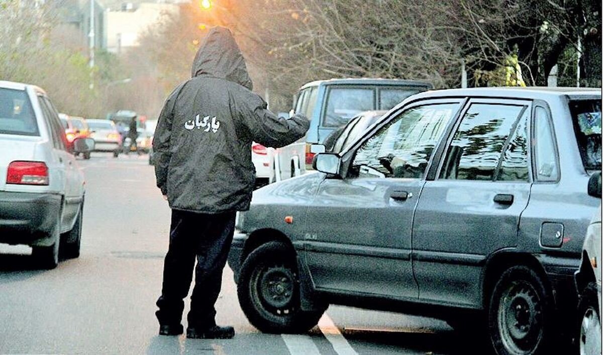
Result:
[[[407,98],[315,174],[254,192],[229,254],[242,310],[277,333],[329,304],[397,310],[487,332],[498,354],[554,353],[601,204],[600,117],[601,89]]]

